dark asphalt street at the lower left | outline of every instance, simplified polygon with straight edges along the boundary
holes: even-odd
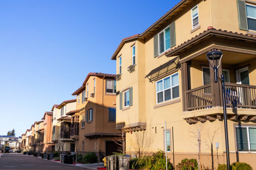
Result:
[[[19,153],[0,154],[0,170],[90,170]]]

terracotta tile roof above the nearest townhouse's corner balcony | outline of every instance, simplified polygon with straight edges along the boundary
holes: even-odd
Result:
[[[232,38],[237,38],[237,39],[246,39],[246,40],[251,40],[251,41],[256,41],[256,36],[255,35],[249,35],[249,34],[242,34],[238,32],[232,32],[232,31],[227,31],[227,30],[216,30],[215,28],[212,28],[212,26],[209,26],[207,30],[201,32],[199,35],[196,35],[195,37],[192,37],[191,39],[183,42],[182,44],[178,45],[175,48],[172,48],[171,50],[167,51],[165,55],[167,57],[171,56],[176,56],[179,55],[177,52],[181,50],[184,47],[188,47],[188,45],[192,44],[193,42],[206,37],[210,34],[214,35],[220,35],[220,36],[225,36],[225,37],[232,37]]]

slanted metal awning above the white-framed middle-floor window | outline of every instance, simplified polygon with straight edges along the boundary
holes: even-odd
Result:
[[[172,60],[169,60],[168,62],[164,63],[163,65],[160,65],[159,67],[156,67],[154,70],[151,70],[151,72],[146,75],[148,77],[149,82],[152,82],[159,77],[162,77],[174,70],[179,68],[179,57],[175,57]],[[145,77],[145,78],[146,78]]]

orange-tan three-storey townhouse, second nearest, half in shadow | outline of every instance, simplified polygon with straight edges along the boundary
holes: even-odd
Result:
[[[115,75],[90,72],[72,95],[77,96],[77,109],[67,115],[72,116],[71,138],[76,140],[77,152],[96,153],[99,160],[118,152],[113,141],[117,135]]]

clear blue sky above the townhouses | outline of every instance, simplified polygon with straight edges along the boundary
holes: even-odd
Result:
[[[0,2],[0,135],[26,132],[54,104],[75,98],[88,72],[115,74],[124,37],[141,33],[179,0]]]

